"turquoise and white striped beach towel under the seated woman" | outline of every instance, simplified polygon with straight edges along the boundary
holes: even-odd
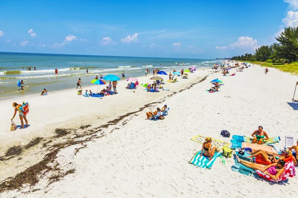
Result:
[[[216,158],[222,154],[222,152],[215,152],[214,156],[211,160],[208,157],[200,156],[201,150],[196,152],[191,160],[188,162],[195,166],[199,166],[201,168],[208,168],[211,169],[212,165],[214,164]]]

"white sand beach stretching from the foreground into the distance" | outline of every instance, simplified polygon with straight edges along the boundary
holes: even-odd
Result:
[[[143,87],[126,90],[123,87],[127,82],[120,81],[119,94],[103,99],[84,98],[77,96],[75,90],[68,90],[48,96],[1,100],[0,156],[12,146],[26,145],[36,137],[43,138],[39,145],[25,149],[20,156],[0,161],[1,180],[41,161],[50,152],[47,148],[55,150],[51,147],[54,144],[71,143],[74,133],[85,134],[88,130],[98,130],[98,133],[75,139],[89,138],[89,141],[60,149],[58,157],[48,164],[59,164],[60,172],[74,170],[73,173],[49,184],[49,178],[54,174],[49,171],[35,186],[5,191],[0,197],[296,197],[297,176],[279,184],[245,176],[231,170],[234,156],[225,159],[225,164],[217,158],[210,170],[188,163],[202,148],[201,144],[191,140],[196,135],[230,142],[230,138],[220,135],[222,130],[231,135],[250,136],[262,125],[269,137],[281,137],[277,144],[280,148],[285,145],[286,134],[293,135],[297,141],[298,111],[287,102],[293,98],[298,78],[273,68],[269,68],[269,74],[265,75],[264,69],[251,65],[243,72],[236,72],[235,76],[197,70],[189,75],[189,79],[179,78],[177,83],[166,83],[164,88],[170,91],[159,93],[147,93]],[[235,68],[230,71],[234,73]],[[207,79],[198,83],[205,76]],[[209,82],[216,78],[224,81],[220,92],[205,91],[211,88]],[[139,81],[147,83],[150,82],[148,79],[141,77]],[[90,88],[96,90],[96,86],[88,87],[88,90]],[[10,132],[11,104],[23,100],[30,103],[28,120],[31,126]],[[160,103],[149,104],[151,102]],[[146,104],[148,107],[139,111]],[[164,120],[145,119],[147,111],[164,104],[170,107]],[[139,112],[102,126],[134,111]],[[18,117],[15,121],[19,125]],[[91,126],[79,129],[87,124]],[[53,138],[56,128],[78,130]],[[53,142],[43,147],[49,140]]]

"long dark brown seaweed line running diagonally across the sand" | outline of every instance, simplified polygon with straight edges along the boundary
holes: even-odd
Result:
[[[126,118],[132,114],[136,114],[140,111],[143,111],[145,108],[151,107],[157,103],[162,103],[164,101],[164,99],[166,99],[166,98],[172,97],[173,95],[180,93],[186,89],[190,89],[194,85],[205,81],[208,76],[209,75],[205,76],[200,81],[185,87],[185,89],[182,89],[178,92],[172,92],[171,94],[160,99],[160,101],[148,103],[148,104],[144,105],[143,107],[139,108],[139,110],[137,110],[137,111],[126,113],[125,115],[121,115],[118,118],[115,118],[114,120],[109,121],[107,124],[103,124],[99,127],[89,129],[89,130],[87,130],[88,133],[84,133],[84,134],[80,134],[80,135],[75,134],[76,136],[74,138],[72,138],[71,140],[68,140],[64,143],[59,143],[59,144],[53,145],[51,148],[49,148],[51,151],[45,155],[43,160],[30,166],[29,168],[25,169],[24,171],[16,174],[14,177],[8,177],[8,178],[4,179],[3,181],[0,181],[0,193],[9,191],[9,190],[16,190],[16,189],[20,190],[25,185],[29,185],[30,187],[33,187],[35,184],[37,184],[39,182],[40,178],[43,178],[44,176],[46,176],[46,174],[49,173],[50,171],[52,171],[53,174],[49,177],[48,185],[50,185],[54,182],[60,181],[64,176],[75,172],[75,169],[70,169],[66,172],[63,172],[63,171],[61,172],[61,169],[57,168],[60,164],[58,162],[54,163],[54,161],[57,158],[57,153],[61,149],[67,148],[67,147],[70,147],[73,145],[78,145],[78,144],[82,145],[82,147],[80,147],[80,148],[75,148],[74,154],[76,154],[79,151],[79,149],[87,147],[87,145],[85,145],[84,143],[87,143],[89,141],[93,141],[95,139],[102,138],[102,137],[106,136],[104,133],[101,133],[100,136],[97,136],[96,133],[101,132],[103,129],[106,129],[111,125],[118,124],[124,118]],[[127,122],[124,122],[122,124],[125,125],[126,123]],[[88,127],[90,127],[90,125],[82,126],[82,127],[80,127],[80,129],[83,130]],[[113,130],[117,130],[117,129],[119,129],[119,128],[115,127]],[[66,136],[66,135],[70,134],[71,131],[73,131],[73,130],[76,131],[75,129],[56,129],[55,130],[56,137]],[[84,138],[84,137],[86,137],[86,138],[83,140],[77,140],[79,138]],[[40,140],[38,140],[38,139],[35,140],[35,143],[36,142],[39,143]],[[47,143],[50,143],[50,142],[51,141],[48,141]],[[32,142],[32,144],[30,144],[30,143],[27,146],[28,148],[30,148],[30,146],[33,145],[33,142]],[[45,143],[44,146],[47,146],[47,143]],[[49,165],[49,163],[52,163],[52,165]],[[55,164],[55,165],[53,165],[53,164]],[[31,192],[34,192],[36,190],[39,190],[39,189],[35,189]]]

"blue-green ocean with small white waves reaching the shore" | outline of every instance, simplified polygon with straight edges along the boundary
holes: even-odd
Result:
[[[90,81],[96,75],[121,77],[124,71],[126,77],[136,77],[145,75],[147,68],[152,73],[153,68],[170,71],[189,67],[211,68],[222,63],[223,60],[216,59],[0,52],[0,98],[37,94],[43,88],[49,92],[75,89],[78,78],[81,78],[82,85],[91,85]],[[31,70],[27,69],[29,67]],[[58,75],[55,75],[56,68]],[[24,81],[24,91],[17,86],[20,80]]]

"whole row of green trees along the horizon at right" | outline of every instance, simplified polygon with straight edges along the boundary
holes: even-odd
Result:
[[[298,61],[298,27],[288,27],[271,46],[261,46],[254,54],[246,53],[233,56],[232,60],[266,61],[273,63],[291,63]]]

